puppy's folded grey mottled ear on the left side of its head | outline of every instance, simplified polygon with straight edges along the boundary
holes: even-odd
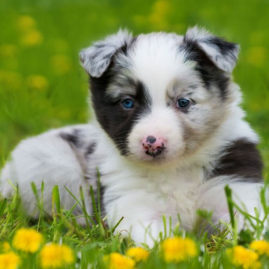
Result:
[[[119,30],[104,40],[94,42],[90,47],[80,52],[80,61],[91,77],[99,78],[107,70],[113,55],[123,46],[132,41],[132,34],[127,30]]]

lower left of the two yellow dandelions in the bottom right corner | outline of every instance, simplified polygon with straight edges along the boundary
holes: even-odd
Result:
[[[258,254],[242,246],[227,249],[226,253],[231,263],[237,267],[243,269],[259,269],[261,267]]]

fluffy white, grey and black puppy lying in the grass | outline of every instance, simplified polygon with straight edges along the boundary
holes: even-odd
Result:
[[[64,187],[79,197],[82,186],[92,213],[89,185],[96,190],[98,168],[108,223],[123,216],[117,231],[150,244],[163,230],[163,215],[175,226],[179,214],[186,230],[203,226],[198,209],[212,211],[213,224],[229,223],[226,184],[255,215],[263,165],[231,78],[238,52],[238,45],[197,27],[184,36],[120,30],[93,43],[80,59],[95,120],[23,140],[2,170],[3,196],[12,195],[7,180],[17,182],[27,212],[37,217],[32,181],[40,190],[44,180],[49,214],[53,185],[65,209],[75,200]],[[243,217],[235,216],[242,228]]]

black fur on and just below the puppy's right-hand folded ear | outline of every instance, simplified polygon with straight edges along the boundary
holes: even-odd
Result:
[[[235,48],[235,44],[226,42],[217,37],[209,37],[204,43],[218,46],[223,55],[230,53]],[[194,40],[187,40],[184,37],[183,44],[179,50],[187,52],[185,61],[196,61],[196,71],[199,72],[205,87],[210,90],[211,86],[217,86],[221,90],[221,96],[225,99],[227,95],[230,76],[219,69],[206,55],[206,53],[197,45]]]

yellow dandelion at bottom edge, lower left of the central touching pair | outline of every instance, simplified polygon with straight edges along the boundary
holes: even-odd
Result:
[[[134,260],[117,252],[104,256],[104,262],[108,264],[109,269],[133,269],[135,266]]]

